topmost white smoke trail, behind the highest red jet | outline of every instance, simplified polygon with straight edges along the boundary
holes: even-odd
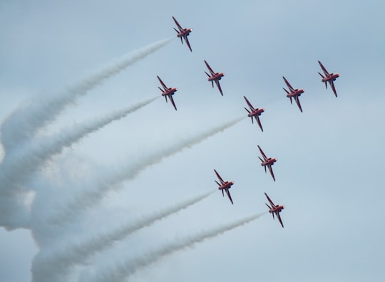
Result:
[[[85,95],[88,91],[103,83],[104,80],[150,55],[150,53],[159,50],[173,39],[163,39],[139,48],[95,71],[88,78],[76,83],[60,95],[43,96],[37,98],[37,102],[36,98],[34,98],[23,107],[15,110],[1,125],[1,141],[5,151],[8,152],[13,147],[29,140],[37,130],[51,122],[77,98]]]

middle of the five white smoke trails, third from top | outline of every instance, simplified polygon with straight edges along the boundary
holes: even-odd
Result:
[[[163,148],[152,155],[147,155],[135,164],[125,165],[118,172],[108,175],[107,177],[101,176],[100,179],[96,179],[96,182],[91,185],[91,187],[93,187],[92,190],[82,192],[82,194],[78,195],[72,202],[68,203],[63,210],[51,217],[51,219],[48,219],[48,221],[51,222],[51,224],[63,224],[63,221],[66,221],[66,219],[71,219],[83,209],[96,204],[98,200],[102,199],[111,189],[118,189],[118,183],[134,179],[140,172],[154,164],[157,164],[158,162],[161,162],[166,157],[170,157],[189,147],[193,147],[194,145],[206,140],[208,137],[236,125],[244,118],[245,117],[237,117],[234,120],[223,123],[222,125],[212,127],[209,130],[200,132],[200,134],[186,140],[180,140],[180,142],[175,143],[170,147]]]

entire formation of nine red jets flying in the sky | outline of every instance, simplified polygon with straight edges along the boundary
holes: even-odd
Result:
[[[188,48],[192,52],[193,50],[190,46],[190,42],[188,41],[188,36],[193,31],[193,29],[192,28],[183,28],[182,26],[180,26],[180,24],[178,23],[178,21],[174,17],[173,17],[173,20],[174,20],[176,26],[178,27],[178,29],[174,28],[174,30],[177,32],[177,36],[178,36],[178,38],[180,38],[180,42],[183,44],[183,40],[184,40],[185,43],[187,44]],[[218,90],[220,91],[220,95],[223,96],[222,88],[220,87],[220,80],[225,75],[225,73],[217,73],[217,72],[213,71],[212,68],[210,67],[209,63],[207,63],[207,61],[204,61],[204,62],[205,62],[205,65],[209,71],[209,73],[207,73],[205,71],[205,73],[208,77],[207,80],[211,82],[212,88],[214,88],[214,83],[215,83],[215,85],[217,85]],[[339,74],[338,73],[329,73],[320,61],[318,61],[318,63],[319,63],[319,66],[322,68],[322,71],[324,73],[324,75],[322,75],[322,73],[319,73],[319,75],[321,75],[321,77],[322,77],[322,83],[325,83],[326,88],[327,88],[327,84],[329,83],[330,87],[333,90],[334,95],[337,97],[337,91],[336,91],[336,88],[334,86],[334,81],[339,77]],[[284,83],[286,83],[287,88],[288,88],[288,89],[283,88],[283,90],[287,94],[286,97],[289,98],[290,103],[292,103],[292,100],[294,99],[295,103],[297,103],[297,106],[302,113],[302,106],[301,106],[301,103],[299,103],[299,96],[302,95],[302,93],[304,93],[304,89],[293,88],[292,85],[289,83],[289,81],[286,78],[284,78],[284,76],[282,76],[282,78],[283,78]],[[159,76],[158,76],[158,80],[159,80],[160,84],[163,86],[163,89],[158,87],[160,89],[160,91],[162,91],[162,96],[165,97],[166,102],[168,101],[168,98],[169,98],[171,103],[173,104],[173,107],[175,108],[175,110],[177,110],[175,102],[173,100],[173,95],[177,91],[177,88],[168,88],[165,85],[165,83],[163,83],[163,81],[159,78]],[[248,109],[245,108],[245,110],[247,111],[247,116],[251,118],[252,123],[254,123],[254,120],[255,120],[263,132],[262,123],[260,121],[260,115],[262,115],[262,113],[265,112],[265,109],[254,108],[254,106],[250,103],[249,100],[247,100],[247,98],[245,96],[243,96],[243,98],[245,98],[245,101],[246,101],[247,106],[248,106]],[[262,155],[262,157],[258,156],[258,158],[261,161],[261,166],[265,168],[265,172],[267,172],[267,169],[269,169],[269,172],[272,176],[272,179],[275,182],[274,173],[272,171],[272,165],[274,164],[274,162],[277,162],[277,158],[267,157],[265,155],[265,152],[262,151],[260,145],[257,145],[257,147],[260,150],[260,153]],[[224,181],[222,179],[222,177],[220,176],[220,174],[215,169],[214,169],[214,172],[217,176],[217,179],[219,180],[219,182],[217,180],[215,180],[215,182],[218,185],[218,189],[220,191],[222,191],[222,196],[224,197],[225,192],[226,192],[227,197],[229,198],[231,204],[234,204],[232,202],[232,197],[230,194],[230,188],[232,187],[234,182]],[[274,204],[272,202],[272,200],[270,199],[270,197],[267,196],[266,193],[265,193],[265,196],[267,198],[267,201],[269,202],[269,204],[266,204],[266,205],[269,208],[270,214],[272,214],[273,219],[274,219],[274,216],[277,216],[279,223],[283,227],[284,224],[282,223],[282,219],[281,219],[281,216],[279,213],[282,211],[282,209],[284,209],[284,206]]]

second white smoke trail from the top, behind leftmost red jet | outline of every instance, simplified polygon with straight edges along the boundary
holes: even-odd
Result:
[[[77,127],[70,127],[48,139],[45,137],[43,141],[34,141],[26,144],[24,150],[17,150],[6,155],[4,161],[0,164],[0,195],[6,197],[9,203],[0,206],[0,226],[10,226],[9,219],[12,214],[18,214],[20,204],[16,204],[16,198],[12,199],[15,194],[25,192],[27,190],[26,183],[29,182],[33,174],[38,171],[50,157],[60,153],[65,147],[86,137],[86,135],[101,129],[114,120],[119,120],[126,115],[135,112],[145,105],[153,102],[160,96],[150,98],[143,102],[131,105],[128,108],[119,110],[116,113],[106,115],[91,122],[84,122]],[[11,204],[14,202],[14,204]],[[17,209],[16,209],[17,207]],[[24,215],[26,213],[24,212]],[[20,221],[20,219],[19,219]]]

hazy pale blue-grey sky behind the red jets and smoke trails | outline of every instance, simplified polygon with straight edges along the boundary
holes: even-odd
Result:
[[[36,172],[22,186],[32,196],[19,203],[31,214],[28,226],[0,228],[0,281],[32,281],[39,256],[71,249],[73,241],[87,241],[216,189],[213,169],[235,182],[234,205],[215,191],[82,261],[86,264],[70,268],[58,281],[89,281],[127,260],[134,266],[143,254],[267,211],[264,192],[286,206],[284,229],[265,214],[141,268],[129,280],[383,281],[384,12],[384,1],[0,0],[1,132],[21,105],[39,108],[107,63],[175,37],[88,91],[36,132],[31,143],[15,145],[1,158],[26,160],[23,156],[33,152],[30,145],[45,148],[47,140],[81,122],[160,95],[156,75],[178,88],[177,112],[156,99],[32,166]],[[193,28],[192,53],[176,38],[171,16]],[[207,81],[203,60],[225,73],[223,97]],[[318,60],[340,74],[338,98],[320,81]],[[294,88],[304,88],[303,113],[285,97],[283,75]],[[265,108],[264,132],[245,117],[118,184],[100,201],[88,203],[86,211],[47,223],[106,175],[247,115],[243,95]],[[25,118],[22,110],[14,116]],[[277,157],[276,182],[260,166],[257,145]],[[34,157],[29,160],[34,164]],[[16,179],[25,176],[17,162],[10,173]],[[4,182],[0,185],[6,189]],[[12,216],[3,212],[0,219],[12,221]],[[56,267],[48,268],[54,273]]]

